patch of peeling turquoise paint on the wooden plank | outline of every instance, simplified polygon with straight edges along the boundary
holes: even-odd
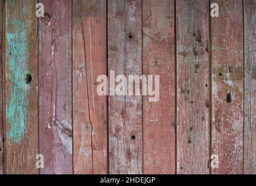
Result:
[[[10,125],[8,138],[19,143],[26,131],[29,84],[26,83],[27,35],[24,21],[11,20],[6,30],[6,68],[9,73],[9,96],[6,103],[6,117]]]

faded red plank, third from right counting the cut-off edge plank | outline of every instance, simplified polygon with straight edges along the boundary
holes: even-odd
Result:
[[[177,174],[209,174],[208,6],[176,2]]]

